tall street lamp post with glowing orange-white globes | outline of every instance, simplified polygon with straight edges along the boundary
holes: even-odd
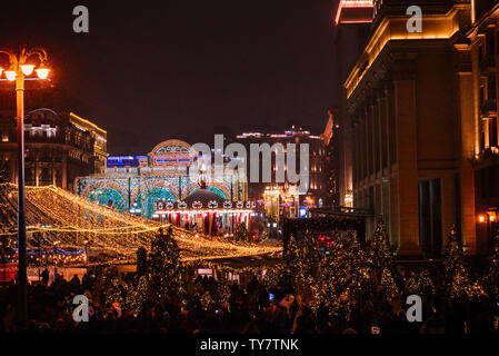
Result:
[[[17,140],[18,140],[18,322],[24,325],[28,320],[28,271],[26,254],[26,205],[24,205],[24,79],[37,72],[40,79],[47,79],[47,52],[41,48],[28,50],[21,46],[18,51],[2,50],[8,57],[8,69],[0,66],[9,81],[16,80],[17,101]],[[32,59],[38,59],[38,67]],[[34,69],[37,67],[37,69]]]

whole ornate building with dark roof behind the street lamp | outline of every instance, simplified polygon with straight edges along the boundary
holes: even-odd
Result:
[[[18,181],[16,97],[9,83],[0,87],[0,165]],[[26,184],[74,189],[74,179],[103,169],[107,132],[67,110],[64,95],[39,83],[26,91]]]

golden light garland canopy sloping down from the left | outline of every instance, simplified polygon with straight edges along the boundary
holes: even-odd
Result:
[[[152,221],[98,206],[54,186],[27,187],[28,248],[90,249],[99,255],[93,264],[134,263],[139,247],[150,248],[160,229],[170,224]],[[17,186],[0,185],[0,210],[11,217],[0,226],[0,236],[14,239],[17,235]],[[186,261],[247,257],[279,253],[280,246],[234,244],[172,226],[181,258]],[[93,253],[93,254],[92,254]]]

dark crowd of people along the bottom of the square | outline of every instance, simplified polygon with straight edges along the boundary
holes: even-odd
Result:
[[[210,277],[211,278],[211,277]],[[198,277],[208,289],[212,279]],[[89,322],[77,323],[73,297],[92,289],[96,276],[67,280],[57,276],[29,287],[29,322],[19,326],[16,317],[17,285],[0,288],[0,334],[488,334],[498,333],[499,308],[482,296],[467,303],[435,297],[423,300],[422,322],[409,323],[401,298],[375,310],[371,300],[356,303],[343,315],[312,312],[298,297],[269,294],[253,278],[230,286],[228,303],[202,306],[198,298],[186,300],[169,295],[154,303],[144,300],[133,314],[119,303],[99,308],[90,303]]]

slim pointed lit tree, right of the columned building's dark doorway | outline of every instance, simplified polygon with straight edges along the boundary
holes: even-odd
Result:
[[[452,225],[443,255],[443,287],[450,299],[468,299],[471,283],[465,266],[465,251]]]

